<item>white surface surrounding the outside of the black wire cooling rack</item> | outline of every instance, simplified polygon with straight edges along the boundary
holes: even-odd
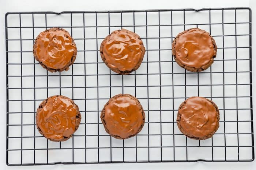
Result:
[[[129,0],[122,2],[120,0],[98,0],[98,1],[67,1],[67,0],[44,0],[38,2],[35,0],[1,0],[0,6],[0,107],[2,108],[2,116],[0,119],[0,169],[256,169],[256,162],[220,162],[220,163],[119,163],[119,164],[95,164],[95,165],[54,165],[54,166],[25,166],[25,167],[8,167],[5,165],[5,136],[6,136],[6,83],[5,83],[5,30],[4,30],[4,14],[11,11],[100,11],[100,10],[133,10],[133,9],[175,9],[175,8],[209,8],[209,7],[251,7],[252,8],[252,69],[254,73],[255,66],[255,41],[256,34],[256,1],[255,0],[158,0],[149,3],[143,0]],[[2,8],[2,9],[1,9]],[[254,74],[253,74],[254,75]],[[255,87],[255,79],[253,78],[253,89]],[[253,98],[255,92],[253,91]],[[255,110],[255,105],[253,106]],[[255,116],[254,116],[255,119]],[[255,123],[254,123],[255,124]]]

